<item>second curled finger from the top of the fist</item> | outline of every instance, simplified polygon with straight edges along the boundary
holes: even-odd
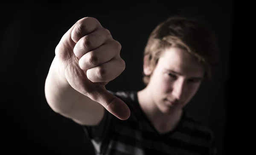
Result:
[[[112,38],[112,36],[107,29],[98,29],[85,35],[76,43],[74,54],[76,57],[81,58],[85,53],[98,48],[110,38]]]

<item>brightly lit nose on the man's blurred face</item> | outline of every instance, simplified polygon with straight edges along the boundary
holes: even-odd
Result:
[[[172,86],[172,96],[176,100],[180,100],[184,94],[184,90],[185,90],[185,80],[183,79],[176,80]]]

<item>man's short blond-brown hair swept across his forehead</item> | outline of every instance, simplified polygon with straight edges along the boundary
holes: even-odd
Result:
[[[152,69],[166,48],[179,47],[198,58],[205,69],[205,77],[211,79],[218,64],[217,41],[213,32],[194,18],[172,16],[161,22],[151,32],[145,46],[145,62]],[[150,75],[143,73],[143,82],[148,84]]]

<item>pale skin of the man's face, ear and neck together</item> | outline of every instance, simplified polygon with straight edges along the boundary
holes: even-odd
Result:
[[[155,128],[168,132],[177,125],[183,107],[198,91],[204,68],[186,50],[176,47],[163,52],[154,70],[146,64],[144,73],[151,78],[138,92],[139,103]]]

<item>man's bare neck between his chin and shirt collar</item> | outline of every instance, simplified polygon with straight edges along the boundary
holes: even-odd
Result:
[[[169,132],[179,123],[183,110],[173,109],[168,113],[161,112],[146,88],[138,92],[138,100],[143,112],[159,132]]]

